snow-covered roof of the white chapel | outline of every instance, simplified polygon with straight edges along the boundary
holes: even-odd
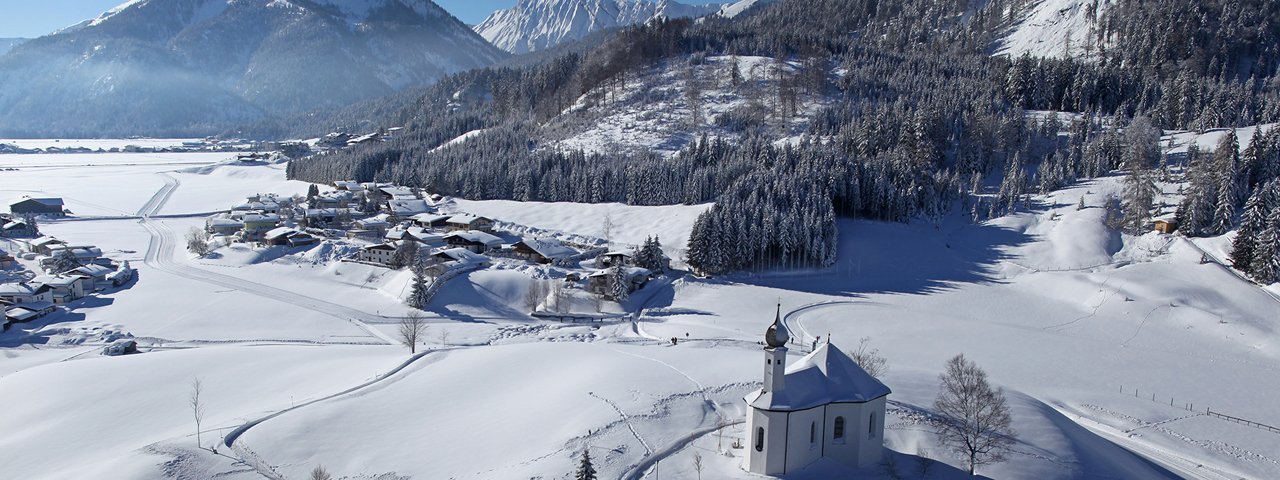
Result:
[[[824,343],[787,366],[782,389],[751,392],[746,402],[759,410],[800,411],[827,403],[864,403],[890,393],[845,352]]]

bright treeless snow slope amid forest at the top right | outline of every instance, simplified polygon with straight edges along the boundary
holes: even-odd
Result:
[[[1079,56],[1092,42],[1110,0],[1037,0],[1023,9],[996,55]]]

